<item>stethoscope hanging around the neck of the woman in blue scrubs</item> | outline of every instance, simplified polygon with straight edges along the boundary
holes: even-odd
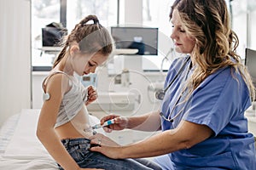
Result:
[[[173,82],[174,82],[174,81],[177,79],[177,77],[182,73],[182,71],[183,71],[184,68],[185,68],[185,65],[189,62],[189,60],[190,60],[190,57],[188,57],[188,58],[183,62],[183,65],[182,65],[181,68],[177,71],[177,74],[175,75],[175,77],[173,77],[172,81],[168,84],[168,86],[167,86],[165,89],[159,90],[159,91],[157,91],[157,92],[155,93],[155,98],[156,98],[156,99],[160,99],[160,100],[164,99],[164,97],[165,97],[165,95],[166,95],[166,91],[172,86]],[[175,106],[177,105],[178,101],[181,99],[182,95],[183,95],[183,93],[180,94],[179,97],[177,98],[177,101],[175,102]],[[160,111],[160,116],[161,116],[164,120],[166,120],[166,121],[168,121],[168,122],[173,122],[174,119],[176,119],[177,116],[179,116],[180,113],[182,112],[182,111],[179,111],[179,112],[177,113],[177,115],[175,115],[175,116],[173,116],[173,117],[171,118],[172,112],[174,111],[175,106],[172,107],[172,111],[170,112],[168,118],[166,118],[166,116],[164,116],[163,112],[161,112],[161,111]]]

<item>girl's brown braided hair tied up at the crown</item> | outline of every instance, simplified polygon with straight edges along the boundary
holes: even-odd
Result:
[[[88,24],[90,20],[93,24]],[[99,53],[106,56],[113,50],[113,41],[108,30],[100,24],[96,15],[88,15],[74,27],[66,39],[63,39],[63,48],[55,59],[53,68],[61,61],[73,42],[78,42],[80,51],[85,54]]]

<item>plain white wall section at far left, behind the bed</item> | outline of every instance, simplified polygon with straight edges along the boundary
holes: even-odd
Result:
[[[0,126],[31,107],[29,0],[0,1]]]

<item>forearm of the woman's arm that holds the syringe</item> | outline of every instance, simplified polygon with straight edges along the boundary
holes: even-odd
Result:
[[[149,112],[142,116],[128,117],[127,128],[140,131],[158,131],[160,130],[160,115],[159,111]]]

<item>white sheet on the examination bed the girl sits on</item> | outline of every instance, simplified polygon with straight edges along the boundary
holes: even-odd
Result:
[[[0,154],[0,169],[58,169],[54,159],[49,156],[36,136],[39,111],[22,110],[10,121],[13,127],[5,123],[1,128],[0,139],[3,140],[0,140],[0,145],[2,143],[2,149],[5,149]],[[90,116],[90,123],[96,124],[99,120],[96,116]],[[5,132],[7,130],[8,133]]]

